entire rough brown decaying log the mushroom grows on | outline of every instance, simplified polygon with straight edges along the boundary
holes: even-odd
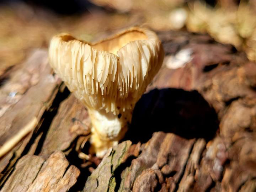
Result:
[[[256,64],[208,35],[158,34],[164,64],[102,160],[89,153],[86,108],[46,50],[1,75],[0,149],[13,147],[0,190],[255,191]]]

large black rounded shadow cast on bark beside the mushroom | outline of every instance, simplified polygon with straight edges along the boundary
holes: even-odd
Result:
[[[145,143],[154,132],[163,131],[208,141],[216,134],[218,124],[217,113],[198,91],[154,89],[135,105],[123,140]]]

